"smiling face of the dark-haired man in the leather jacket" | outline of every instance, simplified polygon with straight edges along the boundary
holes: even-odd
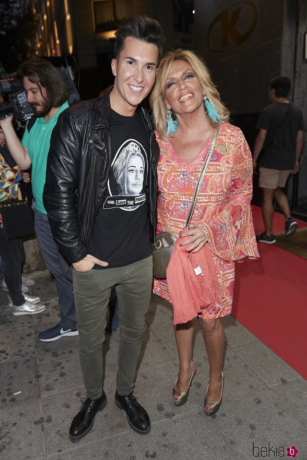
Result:
[[[130,115],[145,99],[155,82],[158,49],[152,43],[127,37],[118,61],[112,59],[116,77],[111,92],[111,107]]]

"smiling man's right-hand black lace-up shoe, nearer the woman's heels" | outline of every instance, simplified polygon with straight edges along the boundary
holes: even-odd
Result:
[[[115,393],[115,405],[126,412],[128,424],[141,434],[147,434],[151,431],[151,421],[149,415],[145,411],[132,393],[127,396],[121,396]]]

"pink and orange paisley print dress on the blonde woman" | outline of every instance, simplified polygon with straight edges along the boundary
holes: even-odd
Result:
[[[197,158],[187,163],[171,141],[159,138],[156,133],[160,146],[157,232],[183,230],[212,137],[213,133]],[[230,314],[235,262],[246,256],[259,257],[250,208],[252,174],[252,158],[243,133],[229,123],[222,123],[192,218],[192,223],[207,236],[220,285],[218,312],[200,312],[198,316],[202,318]],[[171,302],[166,279],[154,279],[153,292]]]

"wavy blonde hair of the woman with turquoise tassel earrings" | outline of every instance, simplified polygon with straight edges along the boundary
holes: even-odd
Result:
[[[166,138],[168,129],[168,114],[165,106],[165,82],[168,76],[169,69],[175,61],[186,61],[194,69],[202,87],[203,94],[206,94],[209,102],[216,105],[217,112],[220,115],[221,121],[229,120],[229,111],[220,100],[220,94],[217,91],[214,83],[212,82],[203,59],[198,57],[194,52],[182,50],[179,48],[175,51],[168,52],[160,62],[159,70],[156,76],[156,83],[151,92],[149,102],[153,112],[153,121],[157,132],[161,138]],[[174,112],[173,112],[174,115]],[[214,122],[209,116],[209,122],[212,127],[216,127],[217,123]]]

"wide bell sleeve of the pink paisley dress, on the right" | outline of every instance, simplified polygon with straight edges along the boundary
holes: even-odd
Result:
[[[240,132],[232,147],[231,184],[220,211],[197,223],[205,232],[212,252],[225,262],[259,257],[250,201],[252,198],[253,165],[249,146]],[[209,214],[209,215],[208,215]]]

